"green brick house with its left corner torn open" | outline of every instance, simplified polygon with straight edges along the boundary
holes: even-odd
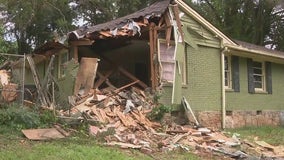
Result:
[[[182,0],[79,28],[68,43],[81,74],[97,73],[87,89],[130,84],[164,104],[187,100],[205,126],[283,124],[284,53],[230,39]]]

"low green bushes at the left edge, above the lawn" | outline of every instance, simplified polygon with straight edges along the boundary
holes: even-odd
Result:
[[[36,109],[20,107],[16,104],[0,109],[0,125],[10,126],[17,130],[45,127],[54,122],[55,118],[50,111],[40,113]]]

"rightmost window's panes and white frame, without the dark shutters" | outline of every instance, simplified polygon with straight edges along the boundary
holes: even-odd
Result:
[[[264,62],[253,61],[253,83],[257,91],[265,91],[265,67]]]

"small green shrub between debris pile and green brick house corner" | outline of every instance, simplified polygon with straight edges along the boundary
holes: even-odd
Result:
[[[152,120],[161,120],[165,113],[170,113],[172,111],[171,106],[166,105],[159,105],[152,109],[152,111],[149,114],[149,118]]]

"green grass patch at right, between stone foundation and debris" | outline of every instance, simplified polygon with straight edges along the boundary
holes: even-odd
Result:
[[[262,126],[226,129],[230,133],[239,133],[241,139],[265,141],[271,145],[284,144],[284,127]]]

